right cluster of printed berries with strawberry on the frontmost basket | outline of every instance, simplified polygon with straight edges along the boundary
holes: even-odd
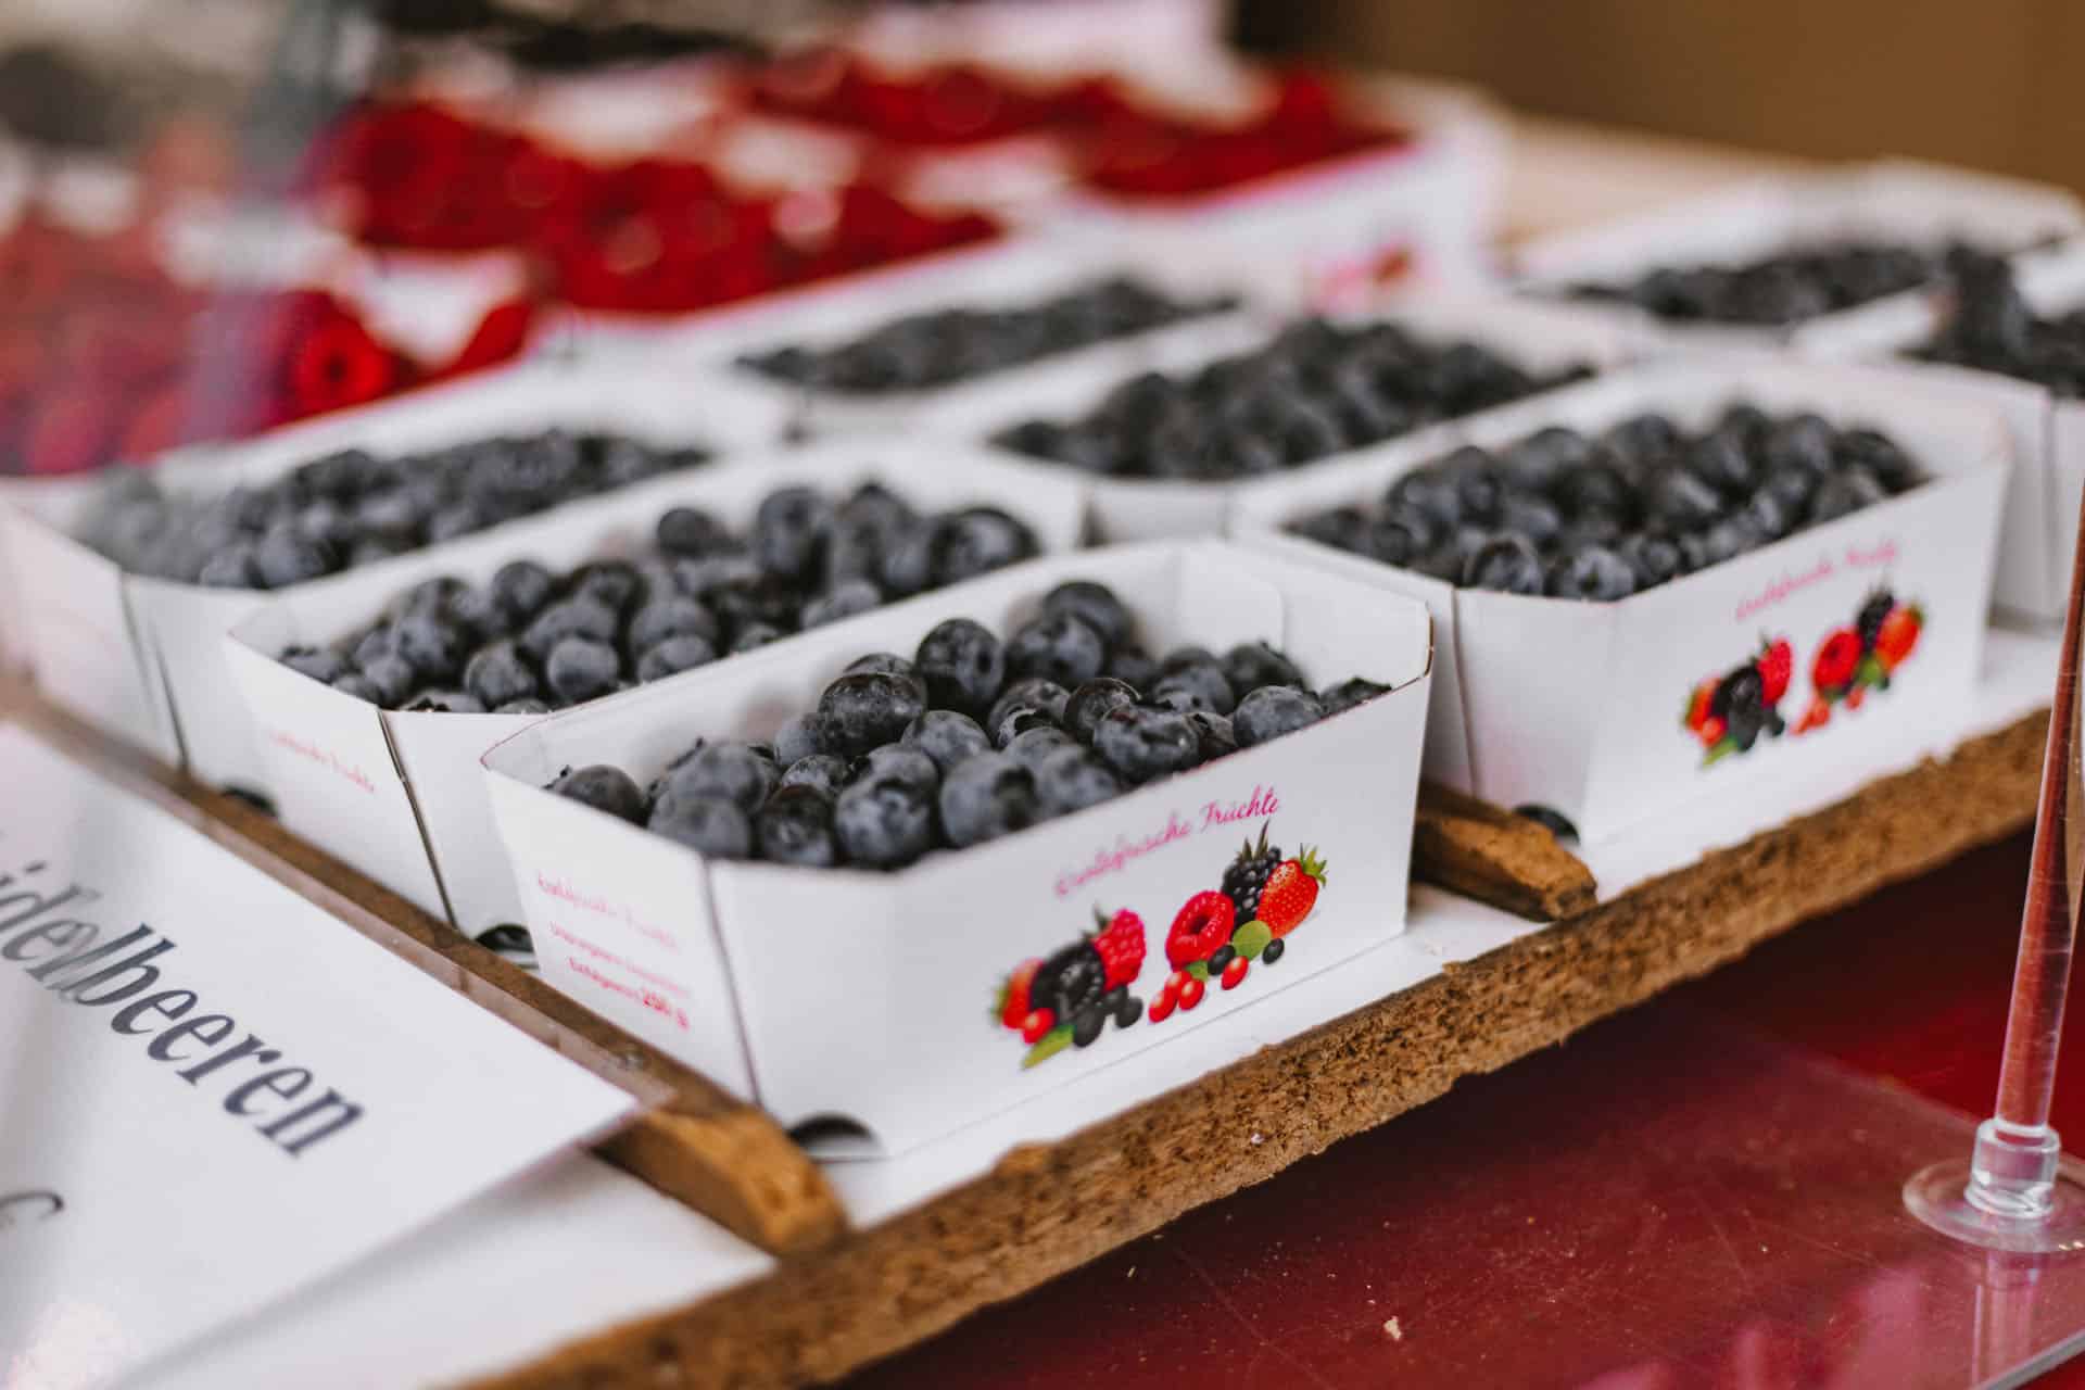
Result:
[[[1211,988],[1236,990],[1255,967],[1278,963],[1289,950],[1284,938],[1318,907],[1324,859],[1307,844],[1295,859],[1284,857],[1268,844],[1270,825],[1238,846],[1218,892],[1193,894],[1174,917],[1166,934],[1166,963],[1174,969],[1151,1000],[1153,1023],[1191,1013]]]

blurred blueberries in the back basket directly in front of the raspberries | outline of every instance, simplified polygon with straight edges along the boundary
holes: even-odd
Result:
[[[940,308],[894,319],[830,348],[786,346],[738,363],[811,390],[917,392],[1236,306],[1232,296],[1176,300],[1115,275],[1038,304]]]

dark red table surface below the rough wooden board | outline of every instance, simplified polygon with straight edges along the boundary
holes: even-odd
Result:
[[[1620,1115],[1616,1127],[1626,1132],[1628,1107],[1637,1096],[1645,1111],[1658,1113],[1660,1125],[1653,1130],[1649,1121],[1645,1123],[1643,1144],[1662,1142],[1676,1125],[1687,1123],[1706,1125],[1710,1144],[1718,1140],[1716,1125],[1745,1134],[1743,1142],[1753,1144],[1743,1125],[1756,1115],[1760,1142],[1789,1146],[1787,1182],[1806,1175],[1804,1121],[1816,1130],[1818,1109],[1826,1107],[1829,1115],[1835,1102],[1833,1086],[1847,1088],[1843,1102],[1849,1113],[1862,1109],[1862,1096],[1879,1102],[1874,1115],[1881,1119],[1862,1109],[1851,1121],[1856,1125],[1872,1123],[1889,1130],[1895,1125],[1891,1104],[1899,1104],[1906,1115],[1893,1136],[1872,1138],[1872,1171],[1854,1171],[1860,1167],[1858,1146],[1851,1167],[1845,1152],[1835,1150],[1824,1161],[1824,1182],[1860,1184],[1887,1194],[1889,1184],[1897,1182],[1899,1167],[1910,1175],[1918,1161],[1889,1148],[1891,1142],[1916,1155],[1941,1144],[1941,1152],[1924,1155],[1931,1159],[1954,1157],[1945,1150],[1954,1142],[1962,1142],[1966,1152],[1966,1125],[1962,1138],[1935,1138],[1931,1125],[1947,1117],[1933,1107],[1910,1102],[1906,1094],[1954,1107],[1964,1119],[1989,1113],[2025,896],[2027,844],[2027,836],[2020,836],[1979,850],[1929,877],[1806,923],[1708,979],[1589,1029],[1562,1052],[1528,1059],[1493,1077],[1464,1082],[1434,1104],[1336,1144],[1224,1202],[1199,1209],[1163,1232],[1015,1302],[965,1319],[940,1338],[857,1375],[851,1382],[853,1390],[1380,1386],[1387,1384],[1382,1338],[1391,1334],[1389,1317],[1395,1309],[1378,1307],[1368,1290],[1380,1288],[1389,1298],[1393,1286],[1397,1298],[1405,1300],[1401,1307],[1407,1309],[1414,1288],[1424,1292],[1430,1311],[1428,1332],[1437,1336],[1445,1330],[1443,1323],[1460,1321],[1453,1311],[1474,1311],[1462,1325],[1470,1334],[1495,1338],[1495,1346],[1478,1350],[1460,1346],[1455,1355],[1462,1363],[1474,1359],[1476,1365],[1493,1367],[1497,1380],[1489,1382],[1480,1373],[1480,1380],[1470,1384],[1516,1384],[1547,1375],[1601,1390],[1624,1386],[1649,1390],[1703,1380],[1793,1390],[1889,1384],[1899,1371],[1908,1382],[1908,1369],[1887,1367],[1887,1346],[1881,1350],[1885,1361],[1872,1361],[1879,1355],[1872,1330],[1924,1325],[1956,1313],[1947,1307],[1933,1313],[1931,1292],[1937,1284],[1924,1273],[1906,1277],[1914,1282],[1924,1277],[1927,1305],[1916,1305],[1918,1294],[1893,1288],[1891,1280],[1904,1275],[1904,1261],[1893,1267],[1874,1263],[1872,1277],[1849,1284],[1843,1277],[1845,1267],[1826,1277],[1831,1265],[1826,1255],[1812,1255],[1806,1261],[1804,1252],[1793,1248],[1795,1242],[1781,1240],[1789,1248],[1772,1257],[1753,1257],[1749,1246],[1745,1248],[1745,1261],[1753,1265],[1749,1284],[1733,1250],[1722,1277],[1737,1284],[1718,1284],[1718,1275],[1697,1273],[1691,1263],[1681,1265],[1674,1275],[1668,1269],[1633,1267],[1628,1259],[1599,1259],[1612,1252],[1597,1248],[1603,1240],[1599,1223],[1614,1225],[1618,1217],[1605,1213],[1595,1217],[1585,1209],[1562,1215],[1557,1207],[1545,1207],[1570,1198],[1557,1196],[1555,1186],[1545,1190],[1545,1175],[1539,1169],[1501,1186],[1501,1163],[1491,1163],[1482,1180],[1428,1188],[1424,1202],[1437,1209],[1430,1230],[1420,1230],[1420,1223],[1412,1230],[1401,1227],[1395,1209],[1389,1209],[1387,1219],[1384,1192],[1399,1192],[1399,1180],[1412,1177],[1409,1167],[1443,1171],[1443,1152],[1453,1155],[1453,1146],[1464,1140],[1485,1144],[1487,1127],[1512,1132],[1522,1115],[1537,1125],[1557,1127],[1560,1148],[1566,1146],[1562,1134],[1574,1127],[1580,1113],[1591,1117],[1587,1123],[1599,1125],[1616,1125],[1614,1117]],[[1572,1052],[1576,1057],[1564,1061],[1564,1054]],[[2070,1029],[2064,1052],[2054,1123],[2060,1134],[2075,1140],[2066,1148],[2077,1152],[2085,1142],[2085,1034],[2079,1027]],[[1776,1073],[1776,1059],[1787,1059],[1791,1069]],[[1599,1098],[1580,1102],[1549,1094],[1557,1086],[1583,1084],[1589,1067],[1601,1082]],[[1801,1098],[1791,1098],[1795,1107],[1791,1117],[1774,1115],[1776,1086],[1783,1077],[1789,1092],[1801,1092]],[[1893,1094],[1897,1100],[1891,1100]],[[1524,1130],[1520,1134],[1524,1136]],[[1851,1136],[1870,1140],[1858,1127]],[[1583,1155],[1597,1155],[1601,1144],[1614,1142],[1612,1134],[1576,1134],[1568,1140],[1580,1163]],[[1624,1167],[1635,1165],[1639,1177],[1658,1163],[1655,1155],[1643,1155],[1639,1161],[1639,1148],[1622,1152]],[[1503,1161],[1507,1171],[1514,1161]],[[1453,1167],[1447,1171],[1453,1173]],[[1756,1163],[1745,1169],[1737,1163],[1733,1173],[1735,1182],[1758,1182],[1760,1167]],[[1576,1200],[1587,1205],[1643,1202],[1639,1190],[1624,1192],[1620,1186],[1603,1190],[1601,1177],[1599,1169],[1591,1173],[1572,1169],[1570,1192],[1583,1194]],[[1655,1180],[1651,1190],[1655,1192]],[[1497,1200],[1499,1192],[1526,1192],[1526,1202],[1507,1213],[1505,1202]],[[1737,1194],[1739,1207],[1743,1196]],[[1478,1200],[1489,1207],[1478,1209]],[[1876,1215],[1885,1207],[1887,1217]],[[1455,1219],[1468,1223],[1468,1246],[1441,1242],[1443,1209],[1455,1211]],[[1893,1200],[1870,1200],[1870,1223],[1897,1223]],[[1522,1217],[1522,1211],[1528,1215]],[[1722,1240],[1714,1213],[1703,1217],[1703,1213],[1660,1211],[1658,1215],[1672,1221],[1670,1234],[1678,1244],[1703,1238],[1701,1219],[1708,1227],[1716,1227],[1716,1240]],[[1560,1234],[1591,1236],[1589,1244],[1595,1248],[1585,1250],[1583,1265],[1572,1263],[1578,1250],[1545,1248],[1539,1255],[1514,1255],[1522,1219],[1530,1227],[1551,1223]],[[1447,1230],[1457,1227],[1449,1223]],[[1403,1252],[1399,1240],[1414,1242],[1405,1248],[1426,1263],[1418,1282],[1409,1263],[1399,1263]],[[1424,1244],[1424,1255],[1418,1250],[1422,1240],[1430,1242]],[[1904,1238],[1899,1234],[1893,1240],[1902,1246]],[[1635,1242],[1641,1259],[1641,1232]],[[1826,1252],[1835,1240],[1820,1227],[1814,1244],[1818,1252]],[[1849,1255],[1858,1240],[1837,1244],[1841,1257],[1858,1259]],[[1760,1250],[1766,1248],[1762,1242]],[[1007,1257],[1017,1259],[1020,1252],[1009,1250]],[[1931,1269],[1931,1261],[1908,1265],[1914,1271]],[[1860,1271],[1864,1265],[1854,1269]],[[2068,1280],[2072,1290],[2068,1302],[2062,1294],[2043,1298],[2045,1317],[2077,1317],[2075,1323],[2064,1321],[2062,1330],[2085,1327],[2085,1313],[2052,1313],[2056,1307],[2085,1309],[2085,1298],[2077,1296],[2085,1290],[2085,1261],[2077,1269],[2081,1273],[2052,1280],[2052,1286]],[[1395,1271],[1395,1284],[1387,1271]],[[1370,1277],[1380,1277],[1384,1284],[1366,1284]],[[1589,1300],[1601,1307],[1612,1296],[1612,1305],[1620,1309],[1612,1323],[1614,1365],[1620,1369],[1580,1371],[1580,1365],[1597,1361],[1597,1355],[1589,1361],[1587,1350],[1610,1336],[1605,1327],[1576,1338],[1570,1348],[1555,1346],[1560,1359],[1555,1365],[1541,1361],[1545,1334],[1532,1313],[1535,1305],[1549,1298],[1545,1288],[1530,1280],[1553,1277],[1578,1284],[1570,1290],[1570,1300],[1580,1307]],[[1772,1286],[1760,1288],[1762,1277]],[[1658,1290],[1647,1294],[1641,1288],[1643,1280],[1658,1280]],[[1699,1288],[1674,1288],[1674,1280]],[[1362,1288],[1355,1288],[1357,1282]],[[1906,1296],[1914,1302],[1906,1305]],[[1881,1315],[1872,1311],[1879,1300],[1891,1298],[1897,1298],[1893,1311]],[[1530,1307],[1528,1336],[1522,1342],[1535,1344],[1532,1350],[1518,1344],[1510,1332],[1499,1334],[1514,1323],[1514,1300]],[[1706,1317],[1714,1323],[1718,1302],[1753,1313],[1731,1317],[1731,1332],[1716,1336],[1712,1348],[1668,1344],[1674,1327],[1689,1325],[1683,1317],[1672,1317],[1674,1309],[1691,1309],[1697,1321]],[[1633,1321],[1626,1315],[1630,1307],[1655,1313]],[[1979,1305],[1979,1332],[1983,1321]],[[1810,1325],[1808,1332],[1804,1323]],[[1845,1327],[1862,1323],[1870,1332],[1866,1344],[1856,1346],[1858,1338]],[[1795,1332],[1789,1334],[1789,1327]],[[1418,1327],[1412,1346],[1420,1348],[1416,1334]],[[1666,1342],[1660,1342],[1660,1336]],[[1551,1340],[1564,1342],[1564,1338]],[[2037,1344],[2045,1346],[2050,1340],[2043,1327]],[[1908,1365],[1918,1363],[1914,1359]],[[1530,1375],[1530,1367],[1543,1367],[1545,1375]],[[1714,1367],[1714,1373],[1708,1375],[1701,1367]],[[2047,1373],[2037,1384],[2085,1390],[2085,1359]]]

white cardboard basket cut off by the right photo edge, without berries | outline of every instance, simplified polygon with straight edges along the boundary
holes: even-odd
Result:
[[[2014,275],[2041,317],[2085,308],[2085,242],[2014,256]],[[2070,523],[2085,502],[2085,402],[2022,377],[1908,356],[1941,329],[1945,298],[1935,290],[1835,315],[1797,333],[1793,346],[1826,361],[1889,365],[1916,381],[1920,396],[1960,398],[2006,421],[2012,479],[1991,602],[2014,619],[2060,623],[2077,546]]]

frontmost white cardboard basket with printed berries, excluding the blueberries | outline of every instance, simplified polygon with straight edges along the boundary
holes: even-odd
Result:
[[[909,652],[949,617],[1005,631],[1072,577],[1111,586],[1151,650],[1266,640],[1314,681],[1357,673],[1393,692],[892,873],[711,863],[544,790],[592,763],[644,781],[696,736],[769,738],[855,656]],[[546,719],[494,748],[486,769],[544,979],[719,1079],[746,1079],[784,1125],[847,1121],[888,1155],[1188,1036],[1401,932],[1428,667],[1424,609],[1380,586],[1220,542],[1130,546],[1034,561]],[[1270,940],[1284,932],[1278,963],[1259,961],[1236,988],[1211,977],[1159,1021],[1109,1021],[1090,1046],[1003,1021],[1024,965],[1076,948],[1097,909],[1111,948],[1143,946],[1122,988],[1157,1002],[1176,917],[1261,831],[1303,865],[1289,877],[1324,879],[1268,927]],[[694,1009],[723,977],[736,1029]]]

